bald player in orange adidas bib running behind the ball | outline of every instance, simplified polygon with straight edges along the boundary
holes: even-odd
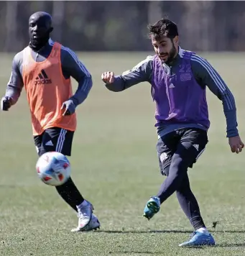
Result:
[[[50,14],[36,12],[29,17],[30,42],[14,56],[1,110],[8,111],[16,104],[24,87],[38,155],[56,151],[70,156],[77,125],[75,109],[87,98],[92,78],[72,50],[51,40],[52,30]],[[78,81],[74,95],[70,77]],[[73,232],[100,227],[92,204],[83,198],[71,178],[55,188],[78,213],[78,227]]]

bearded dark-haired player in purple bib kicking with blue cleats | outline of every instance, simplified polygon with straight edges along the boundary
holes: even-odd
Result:
[[[223,103],[226,132],[231,152],[239,153],[244,143],[239,137],[234,96],[207,60],[178,45],[177,25],[160,19],[149,25],[149,37],[156,54],[148,56],[121,76],[105,72],[101,78],[110,91],[124,91],[140,82],[152,86],[156,103],[157,154],[160,172],[166,175],[156,196],[147,201],[144,215],[151,219],[160,205],[176,192],[182,210],[195,232],[180,246],[214,245],[205,227],[198,201],[190,189],[188,168],[193,168],[208,143],[208,87]]]

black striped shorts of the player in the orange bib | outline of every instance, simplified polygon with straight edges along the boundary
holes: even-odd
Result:
[[[56,151],[70,156],[73,134],[74,132],[59,127],[45,129],[41,135],[34,136],[37,154],[41,156],[45,152]]]

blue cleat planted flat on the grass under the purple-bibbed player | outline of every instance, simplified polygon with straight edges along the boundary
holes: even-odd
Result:
[[[179,246],[202,246],[202,245],[215,245],[216,242],[210,233],[201,233],[198,231],[193,232],[189,241],[179,244]]]

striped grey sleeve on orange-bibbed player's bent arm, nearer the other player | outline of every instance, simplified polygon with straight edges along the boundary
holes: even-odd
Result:
[[[78,89],[70,98],[75,106],[83,103],[91,91],[93,82],[91,74],[88,72],[85,65],[78,60],[75,52],[68,47],[63,47],[61,52],[62,69],[64,76],[73,77],[78,82]]]

